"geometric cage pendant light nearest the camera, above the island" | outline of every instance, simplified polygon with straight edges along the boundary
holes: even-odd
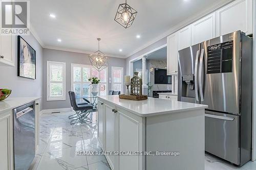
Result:
[[[129,28],[132,26],[137,13],[138,12],[128,5],[125,0],[125,4],[120,4],[117,9],[115,21],[124,28]]]

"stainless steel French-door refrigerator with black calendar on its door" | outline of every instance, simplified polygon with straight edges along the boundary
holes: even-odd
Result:
[[[208,105],[205,151],[251,159],[252,39],[236,31],[179,51],[178,101]]]

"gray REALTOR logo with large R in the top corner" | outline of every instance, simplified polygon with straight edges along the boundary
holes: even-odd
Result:
[[[29,35],[29,1],[1,2],[1,35]]]

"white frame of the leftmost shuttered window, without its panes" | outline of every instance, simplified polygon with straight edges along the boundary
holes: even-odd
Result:
[[[62,65],[63,66],[63,73],[62,73],[62,84],[63,84],[63,91],[61,97],[51,97],[50,96],[50,66],[51,65]],[[47,99],[46,101],[66,101],[66,62],[57,62],[57,61],[47,61]]]

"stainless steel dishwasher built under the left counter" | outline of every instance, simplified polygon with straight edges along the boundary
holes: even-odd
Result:
[[[35,157],[35,103],[13,109],[14,169],[27,170]]]

